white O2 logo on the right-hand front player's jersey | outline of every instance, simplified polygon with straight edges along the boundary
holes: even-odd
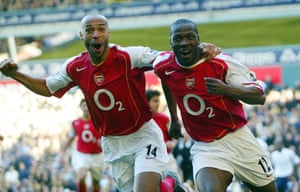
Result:
[[[189,106],[189,100],[190,99],[194,99],[196,100],[197,102],[199,102],[199,110],[193,110],[190,106]],[[185,108],[185,110],[190,114],[190,115],[193,115],[193,116],[198,116],[198,115],[201,115],[205,110],[208,111],[208,118],[212,118],[215,116],[214,114],[214,109],[212,107],[206,107],[205,105],[205,100],[202,99],[201,97],[199,97],[198,95],[195,95],[195,94],[186,94],[184,97],[183,97],[183,106]]]

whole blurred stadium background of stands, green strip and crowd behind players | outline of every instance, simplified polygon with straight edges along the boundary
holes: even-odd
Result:
[[[280,140],[295,159],[300,155],[299,0],[2,0],[0,60],[11,57],[37,77],[56,73],[84,50],[78,32],[81,18],[90,13],[108,18],[112,43],[157,50],[170,49],[168,26],[174,20],[194,20],[202,42],[221,47],[266,82],[267,103],[245,105],[249,126],[266,150],[271,155]],[[153,72],[146,78],[147,88],[161,90]],[[70,122],[80,116],[81,98],[77,89],[62,99],[44,98],[0,75],[0,191],[76,191],[72,168],[58,162],[57,154]],[[167,113],[164,102],[161,111]],[[174,155],[185,169],[182,159],[189,157]],[[296,192],[299,161],[291,162],[287,191]],[[14,170],[17,178],[5,176]],[[193,191],[193,182],[182,180]],[[109,173],[99,182],[115,190]],[[238,183],[228,191],[245,189]]]

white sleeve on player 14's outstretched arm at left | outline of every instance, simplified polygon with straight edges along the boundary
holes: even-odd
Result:
[[[72,79],[68,76],[66,70],[67,64],[72,59],[73,58],[68,59],[55,75],[51,75],[46,78],[46,85],[52,94],[72,82]]]

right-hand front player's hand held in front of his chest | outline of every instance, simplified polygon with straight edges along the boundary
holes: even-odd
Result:
[[[216,95],[223,95],[225,93],[227,86],[220,79],[205,77],[204,81],[208,93]]]

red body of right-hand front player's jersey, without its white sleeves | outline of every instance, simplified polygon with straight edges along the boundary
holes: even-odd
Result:
[[[239,102],[206,91],[204,77],[225,80],[228,70],[225,62],[214,59],[184,69],[173,57],[156,65],[155,70],[175,96],[185,127],[194,139],[219,138],[244,124]],[[233,111],[237,108],[238,111]]]

